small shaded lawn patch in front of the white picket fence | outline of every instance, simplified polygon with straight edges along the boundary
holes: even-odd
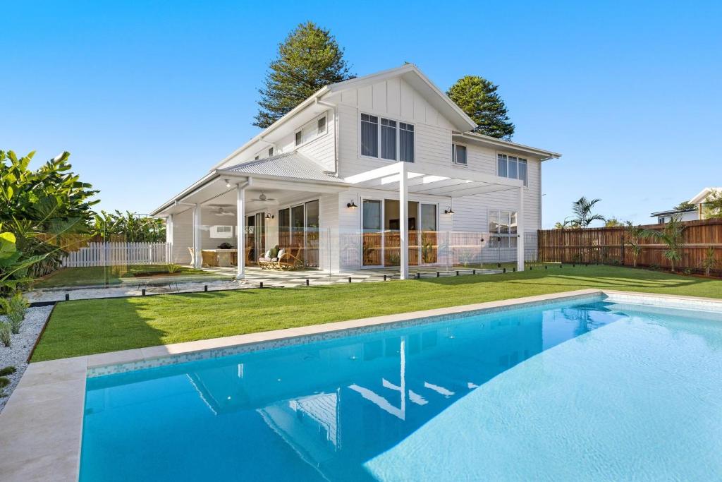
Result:
[[[179,267],[178,275],[173,277],[188,276],[218,276],[213,272],[193,270],[189,267]],[[168,272],[165,264],[135,264],[132,266],[109,266],[109,267],[83,267],[83,268],[61,268],[51,275],[38,280],[35,288],[62,288],[87,285],[119,285],[123,281],[134,281],[138,279],[149,279],[136,277],[136,274],[147,272]]]

